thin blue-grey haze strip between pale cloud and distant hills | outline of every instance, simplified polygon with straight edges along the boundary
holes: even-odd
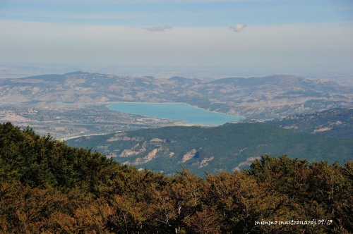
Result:
[[[334,67],[334,66],[333,66]],[[0,79],[25,78],[32,75],[65,74],[76,71],[114,74],[124,76],[153,76],[171,78],[181,76],[201,80],[215,80],[229,77],[263,77],[268,75],[296,75],[303,78],[353,78],[353,69],[332,68],[330,65],[316,66],[243,66],[243,67],[177,67],[177,66],[68,66],[61,64],[30,64],[27,66],[0,63]]]

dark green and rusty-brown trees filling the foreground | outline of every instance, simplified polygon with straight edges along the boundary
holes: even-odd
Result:
[[[4,123],[0,183],[0,233],[353,231],[352,161],[263,156],[248,171],[164,176]]]

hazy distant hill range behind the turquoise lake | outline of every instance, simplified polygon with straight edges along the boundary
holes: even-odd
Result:
[[[353,90],[291,75],[206,82],[73,72],[0,80],[0,102],[180,102],[247,118],[281,118],[352,106]]]

